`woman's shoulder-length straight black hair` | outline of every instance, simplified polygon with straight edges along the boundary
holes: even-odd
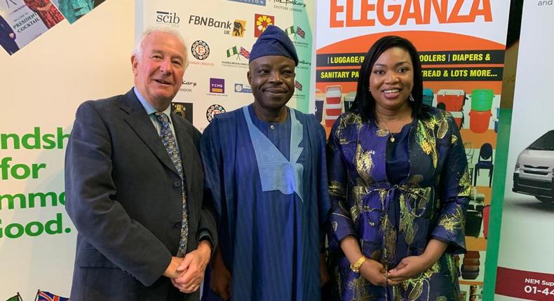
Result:
[[[421,76],[421,62],[419,61],[416,48],[412,42],[400,36],[384,36],[379,38],[379,40],[371,46],[370,50],[367,51],[362,67],[360,68],[356,99],[354,99],[350,111],[360,113],[363,122],[368,122],[370,118],[374,119],[375,117],[375,99],[368,90],[370,87],[370,75],[373,65],[383,52],[393,47],[406,50],[410,53],[410,57],[412,58],[412,65],[414,66],[412,97],[414,97],[414,102],[408,101],[410,106],[412,106],[412,116],[419,119],[428,118],[428,112],[423,106],[423,77]]]

